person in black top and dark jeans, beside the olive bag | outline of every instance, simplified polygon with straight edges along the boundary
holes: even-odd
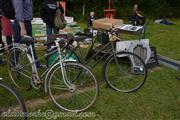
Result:
[[[57,0],[45,0],[40,7],[40,16],[44,23],[46,23],[46,34],[47,42],[50,41],[49,36],[51,34],[58,34],[59,29],[55,28],[54,19],[57,9],[60,9],[61,13],[64,14],[64,9],[59,1]],[[47,46],[51,48],[50,45]]]

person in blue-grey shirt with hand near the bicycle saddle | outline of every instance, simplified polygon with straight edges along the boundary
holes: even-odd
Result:
[[[11,0],[15,10],[14,21],[14,43],[19,43],[22,36],[28,35],[32,37],[32,24],[33,19],[33,0]],[[34,57],[36,53],[34,50]],[[40,62],[36,62],[36,66],[40,68],[42,65]]]

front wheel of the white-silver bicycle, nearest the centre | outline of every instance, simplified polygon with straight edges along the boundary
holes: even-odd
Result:
[[[50,72],[48,90],[55,105],[68,112],[82,112],[90,108],[98,95],[98,83],[93,73],[84,65],[64,62],[63,79],[60,64]],[[68,85],[67,85],[68,84]]]

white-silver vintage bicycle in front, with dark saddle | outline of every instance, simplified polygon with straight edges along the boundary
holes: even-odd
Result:
[[[37,60],[34,58],[34,42],[36,40],[32,37],[25,36],[22,37],[20,45],[10,50],[7,63],[13,83],[25,89],[29,89],[30,86],[39,89],[43,85],[55,105],[65,111],[82,112],[90,108],[98,96],[98,83],[89,68],[68,61],[69,54],[63,53],[68,41],[58,38],[47,43],[54,44],[54,48]],[[42,74],[39,74],[36,62],[54,53],[57,53],[55,59]]]

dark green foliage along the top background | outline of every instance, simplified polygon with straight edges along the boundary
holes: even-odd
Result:
[[[90,11],[95,11],[97,17],[103,17],[103,10],[108,8],[108,0],[66,0],[67,15],[75,19],[86,19]],[[39,7],[42,0],[34,0],[34,15],[39,16]],[[180,17],[180,0],[112,0],[112,7],[116,9],[117,18],[127,18],[133,4],[139,4],[140,10],[147,17]],[[83,5],[85,15],[83,16]]]

